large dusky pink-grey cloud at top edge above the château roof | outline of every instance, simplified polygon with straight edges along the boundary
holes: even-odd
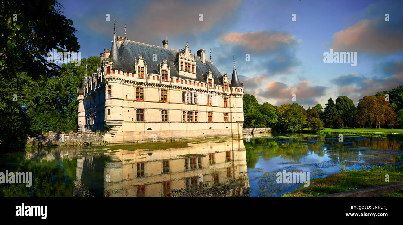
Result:
[[[146,41],[150,37],[164,38],[166,35],[181,35],[189,32],[201,33],[233,12],[240,0],[223,1],[152,1],[134,21],[135,31],[131,37]],[[199,14],[203,21],[199,21]]]

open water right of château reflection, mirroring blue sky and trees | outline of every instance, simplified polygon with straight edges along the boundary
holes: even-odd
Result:
[[[326,139],[319,137],[317,135],[315,139],[312,136],[293,135],[286,139],[272,135],[270,139],[254,142],[257,147],[254,145],[254,150],[250,151],[256,151],[258,155],[253,168],[260,170],[248,168],[251,196],[282,196],[301,185],[277,184],[276,173],[283,170],[310,172],[310,179],[313,179],[340,172],[340,162],[344,160],[347,170],[360,170],[363,165],[368,168],[384,162],[396,162],[403,153],[401,142],[393,139],[345,136],[344,142],[338,142],[337,136],[326,135]],[[315,140],[326,140],[326,143]],[[304,149],[302,146],[307,147]],[[247,151],[250,149],[247,144],[245,148]]]

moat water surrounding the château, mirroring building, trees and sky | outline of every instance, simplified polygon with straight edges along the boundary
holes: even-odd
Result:
[[[44,147],[0,155],[0,172],[32,172],[32,186],[0,184],[0,196],[282,196],[310,179],[374,165],[401,164],[401,141],[381,137],[271,134],[127,145]]]

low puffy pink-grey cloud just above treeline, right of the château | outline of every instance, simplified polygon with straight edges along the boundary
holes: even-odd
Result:
[[[325,86],[314,86],[311,82],[303,80],[294,86],[288,86],[282,82],[273,81],[267,84],[264,96],[276,101],[275,105],[280,106],[285,103],[292,104],[292,95],[296,94],[296,102],[304,106],[314,106],[319,104],[316,98],[325,95]]]

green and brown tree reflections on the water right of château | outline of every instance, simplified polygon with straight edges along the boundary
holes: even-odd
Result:
[[[315,153],[318,156],[328,156],[333,160],[357,157],[360,151],[366,149],[376,150],[399,150],[402,151],[401,141],[386,139],[382,137],[344,136],[344,141],[339,142],[338,135],[292,135],[289,137],[274,136],[266,139],[251,139],[244,141],[246,149],[247,167],[255,168],[260,157],[271,159],[280,156],[290,162],[299,163],[307,157],[308,153]],[[326,147],[326,151],[325,151]],[[395,155],[388,151],[380,151],[377,157],[387,159],[388,162],[395,162]],[[403,158],[403,157],[401,157]]]

